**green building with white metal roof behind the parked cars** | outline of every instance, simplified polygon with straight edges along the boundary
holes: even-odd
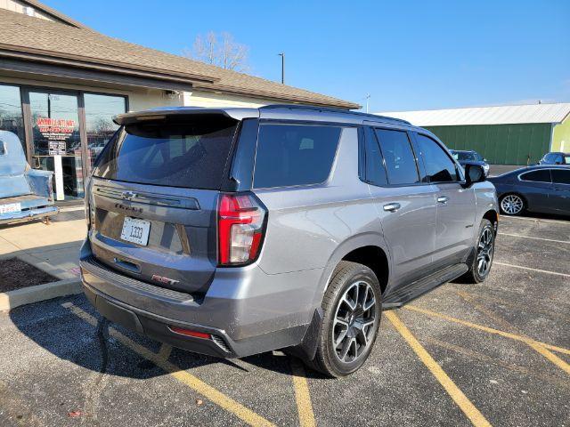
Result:
[[[495,165],[529,165],[548,151],[570,151],[570,102],[378,114],[425,127],[450,149],[475,149]]]

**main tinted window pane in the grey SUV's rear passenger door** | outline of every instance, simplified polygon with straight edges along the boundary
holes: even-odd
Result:
[[[376,135],[386,162],[388,182],[391,185],[419,182],[418,167],[408,134],[401,131],[376,129]]]

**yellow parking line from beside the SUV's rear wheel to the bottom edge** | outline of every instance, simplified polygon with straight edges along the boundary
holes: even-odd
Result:
[[[460,388],[453,383],[452,379],[445,374],[444,369],[437,365],[434,358],[430,356],[428,351],[423,348],[413,334],[411,334],[410,329],[402,323],[402,320],[398,318],[394,311],[386,311],[386,317],[392,325],[395,326],[396,330],[403,336],[403,338],[410,344],[411,350],[418,355],[419,359],[428,367],[431,373],[436,377],[436,380],[442,384],[445,391],[451,396],[453,401],[460,407],[461,411],[468,417],[468,419],[476,426],[490,426],[485,416],[479,412],[479,410],[471,403],[471,401],[460,391]]]

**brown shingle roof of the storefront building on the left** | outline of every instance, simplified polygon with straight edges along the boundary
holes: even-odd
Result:
[[[0,9],[2,57],[106,69],[123,74],[136,72],[146,77],[190,83],[202,90],[245,94],[275,101],[360,108],[353,102],[127,43],[89,28],[39,20],[4,9]]]

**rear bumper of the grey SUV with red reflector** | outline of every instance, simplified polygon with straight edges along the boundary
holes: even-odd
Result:
[[[267,277],[255,266],[221,269],[227,271],[220,275],[216,272],[201,299],[110,270],[94,259],[88,240],[82,248],[80,266],[85,294],[104,317],[160,342],[202,354],[236,358],[297,345],[314,315],[314,308],[308,305],[313,297],[289,294],[285,289],[286,301],[283,290],[277,291],[293,277]],[[259,282],[261,274],[265,282]],[[307,282],[299,283],[306,287]],[[266,292],[256,293],[259,286]],[[212,338],[177,334],[169,326]]]

